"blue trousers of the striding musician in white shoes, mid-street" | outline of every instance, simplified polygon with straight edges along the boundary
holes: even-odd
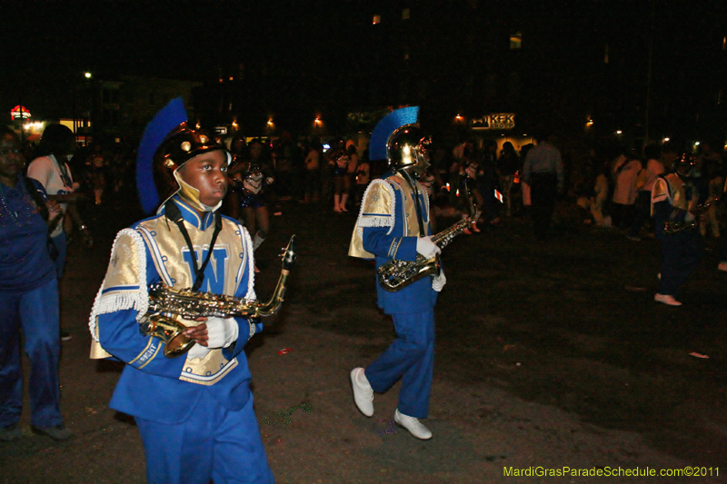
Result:
[[[426,419],[434,369],[434,310],[392,317],[396,340],[366,367],[366,379],[377,393],[402,379],[399,411]]]

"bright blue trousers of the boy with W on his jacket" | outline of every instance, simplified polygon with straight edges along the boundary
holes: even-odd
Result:
[[[191,383],[192,384],[192,383]],[[136,418],[144,440],[148,484],[273,484],[253,397],[226,410],[204,391],[181,424]]]

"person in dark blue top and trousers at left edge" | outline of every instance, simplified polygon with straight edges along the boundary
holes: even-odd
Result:
[[[62,220],[61,208],[47,201],[43,185],[26,178],[24,168],[17,135],[0,126],[0,440],[22,437],[21,330],[30,361],[32,429],[67,440],[73,434],[60,410],[58,282],[48,235]]]

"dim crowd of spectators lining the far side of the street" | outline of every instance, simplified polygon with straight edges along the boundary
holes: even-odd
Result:
[[[463,179],[469,179],[475,205],[482,212],[480,227],[507,218],[530,218],[532,181],[523,176],[523,167],[527,153],[537,143],[533,140],[516,148],[513,142],[471,137],[457,143],[433,143],[429,153],[432,166],[426,177],[432,178],[427,184],[431,186],[434,217],[458,217],[463,212]],[[262,197],[272,214],[282,213],[286,202],[320,205],[322,212],[333,207],[331,212],[336,214],[355,211],[368,183],[386,170],[385,163],[368,160],[365,145],[343,137],[294,140],[283,133],[273,139],[246,142],[238,135],[226,143],[234,154],[230,168],[234,189],[228,193],[224,212],[243,222],[250,217],[244,217],[240,208],[240,193],[244,170],[251,162],[264,173]],[[555,195],[555,223],[622,231],[632,241],[647,236],[652,223],[653,183],[672,170],[683,147],[664,143],[627,148],[613,143],[573,148],[568,144],[553,142],[563,153],[563,183]],[[26,145],[26,159],[35,159],[36,149]],[[695,151],[693,179],[700,202],[713,202],[724,187],[723,153],[712,149],[712,143],[702,143]],[[78,147],[68,162],[76,192],[89,205],[120,197],[128,200],[126,191],[135,186],[134,159],[134,148],[124,143]],[[720,236],[715,205],[708,203],[701,214],[699,230],[704,237]],[[65,223],[66,232],[73,232],[68,217]],[[265,229],[269,225],[260,220],[253,223]]]

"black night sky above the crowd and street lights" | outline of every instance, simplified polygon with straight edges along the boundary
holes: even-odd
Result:
[[[681,123],[691,123],[700,111],[708,115],[713,98],[725,86],[724,55],[714,48],[727,34],[725,4],[0,0],[0,109],[6,112],[22,102],[31,111],[52,114],[68,85],[85,71],[97,79],[137,74],[212,84],[221,75],[237,74],[244,64],[245,69],[274,73],[274,82],[265,85],[265,106],[285,104],[290,112],[311,99],[342,112],[411,102],[431,102],[438,110],[477,111],[499,101],[519,111],[523,104],[534,104],[546,114],[553,110],[551,104],[573,103],[593,104],[594,110],[610,106],[610,123],[617,123],[621,117],[642,117],[651,31],[652,109],[662,118],[681,116]],[[385,32],[391,25],[387,19],[405,6],[412,7],[413,15],[426,14],[425,22],[413,16],[412,25],[418,26],[408,34],[412,38],[391,32],[372,35],[379,28],[371,25],[373,13],[384,14],[380,27]],[[514,67],[524,73],[523,95],[517,103],[503,101],[501,95],[485,99],[478,92],[480,80],[491,72],[506,75],[513,64],[490,54],[488,33],[516,28],[525,35],[523,50],[529,49],[527,62]],[[403,43],[419,49],[421,61],[413,60],[415,70],[410,72],[431,81],[419,97],[401,94],[415,89],[399,85],[407,71],[397,70],[398,57],[386,56],[388,51],[398,54]],[[602,72],[605,44],[611,59],[608,74]],[[343,92],[343,84],[354,85],[356,92]]]

